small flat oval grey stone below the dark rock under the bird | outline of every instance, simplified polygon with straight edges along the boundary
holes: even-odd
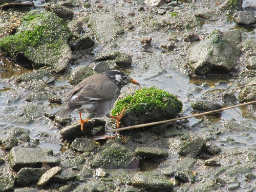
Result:
[[[77,138],[72,144],[71,148],[77,152],[92,152],[96,145],[96,141],[86,138]]]

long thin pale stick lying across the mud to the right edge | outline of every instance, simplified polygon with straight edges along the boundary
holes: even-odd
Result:
[[[169,119],[169,120],[164,120],[164,121],[157,121],[157,122],[152,122],[152,123],[145,123],[145,124],[139,124],[139,125],[133,125],[133,126],[126,126],[126,127],[122,127],[122,128],[119,128],[119,129],[107,130],[107,131],[105,131],[105,133],[137,129],[137,128],[141,128],[141,127],[144,127],[144,126],[152,126],[152,125],[157,125],[157,124],[177,121],[177,120],[181,120],[181,119],[188,119],[188,118],[192,118],[192,117],[199,117],[199,116],[208,115],[208,114],[212,114],[212,113],[222,112],[222,111],[229,110],[229,109],[232,109],[232,108],[238,108],[239,106],[244,106],[244,105],[248,105],[248,104],[252,104],[252,103],[256,103],[256,100],[255,101],[250,101],[250,102],[247,102],[247,103],[242,103],[242,104],[234,105],[234,106],[229,106],[227,108],[222,108],[222,109],[219,109],[219,110],[199,113],[199,114],[195,114],[195,115],[189,115],[189,116],[185,116],[185,117],[179,117],[179,118],[175,118],[175,119]]]

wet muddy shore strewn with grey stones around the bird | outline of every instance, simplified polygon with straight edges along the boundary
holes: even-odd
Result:
[[[75,114],[54,119],[72,86],[109,69],[175,94],[179,116],[256,100],[255,3],[5,3],[0,191],[256,190],[255,104],[101,140],[92,136],[115,126],[106,118],[89,121],[83,132]],[[176,80],[170,74],[180,76],[177,89],[169,87]],[[136,89],[126,87],[119,100]],[[173,117],[164,114],[139,115],[151,122]],[[138,124],[135,117],[123,125]]]

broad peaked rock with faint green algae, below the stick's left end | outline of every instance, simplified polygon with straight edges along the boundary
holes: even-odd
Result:
[[[102,151],[91,161],[91,167],[106,169],[126,168],[136,159],[133,152],[121,144],[112,143],[103,147]]]

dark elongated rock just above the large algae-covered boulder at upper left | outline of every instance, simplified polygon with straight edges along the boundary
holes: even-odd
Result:
[[[68,19],[74,15],[73,11],[58,4],[47,4],[45,9],[54,12],[60,18]]]

